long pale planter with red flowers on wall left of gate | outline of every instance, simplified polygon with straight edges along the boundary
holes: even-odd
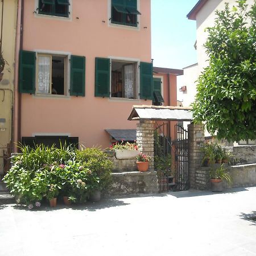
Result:
[[[121,143],[115,142],[110,146],[110,150],[115,150],[115,157],[117,159],[133,159],[139,154],[137,143],[123,141]]]

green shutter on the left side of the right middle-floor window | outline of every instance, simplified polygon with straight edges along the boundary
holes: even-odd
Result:
[[[109,97],[110,59],[95,58],[95,97]]]

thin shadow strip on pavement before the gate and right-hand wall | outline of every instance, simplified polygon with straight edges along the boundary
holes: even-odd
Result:
[[[198,191],[198,190],[187,190],[187,191],[178,191],[178,192],[168,192],[167,195],[175,196],[176,198],[181,197],[194,197],[194,196],[209,196],[217,194],[230,194],[247,191],[246,188],[229,188],[223,192],[212,192],[212,191]]]

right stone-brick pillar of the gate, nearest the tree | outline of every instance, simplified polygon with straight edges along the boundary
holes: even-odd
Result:
[[[190,188],[199,188],[201,160],[204,153],[201,147],[204,143],[204,126],[201,124],[188,125],[188,168]]]

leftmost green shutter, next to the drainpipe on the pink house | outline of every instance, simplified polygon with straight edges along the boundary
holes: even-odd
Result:
[[[19,53],[19,92],[35,93],[36,53]]]

